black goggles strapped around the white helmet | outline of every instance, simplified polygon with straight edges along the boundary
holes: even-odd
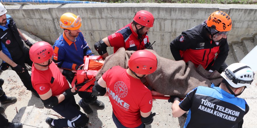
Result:
[[[247,67],[248,67],[248,66],[247,66]],[[244,68],[245,68],[245,67],[244,67]],[[237,72],[238,70],[241,70],[241,69],[237,69],[237,70],[235,70],[234,72]],[[253,82],[253,80],[251,80],[251,81],[245,81],[245,80],[242,80],[242,79],[237,79],[237,78],[235,77],[234,72],[232,72],[232,71],[229,70],[229,69],[225,69],[225,70],[224,70],[225,75],[228,77],[228,79],[232,80],[233,83],[235,83],[235,84],[237,84],[237,83],[249,83],[249,84],[251,84],[251,83]]]

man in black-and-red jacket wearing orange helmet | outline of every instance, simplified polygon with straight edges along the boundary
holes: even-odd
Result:
[[[227,34],[231,28],[228,14],[215,11],[202,24],[174,39],[170,43],[171,53],[176,61],[192,61],[196,67],[201,64],[207,71],[221,73],[228,67],[225,60],[229,51]]]

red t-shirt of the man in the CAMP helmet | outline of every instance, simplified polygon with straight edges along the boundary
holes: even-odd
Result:
[[[60,95],[70,88],[66,78],[62,75],[55,63],[49,65],[48,70],[37,70],[32,65],[31,82],[33,88],[39,95],[47,93],[52,89],[52,96]]]

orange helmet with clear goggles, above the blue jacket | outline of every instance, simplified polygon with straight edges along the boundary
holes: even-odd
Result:
[[[77,30],[81,27],[81,17],[73,13],[64,13],[60,18],[60,27],[62,29]]]

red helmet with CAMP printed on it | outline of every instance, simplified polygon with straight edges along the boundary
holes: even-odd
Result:
[[[53,48],[48,42],[40,41],[29,49],[29,58],[34,63],[43,63],[53,56]]]

